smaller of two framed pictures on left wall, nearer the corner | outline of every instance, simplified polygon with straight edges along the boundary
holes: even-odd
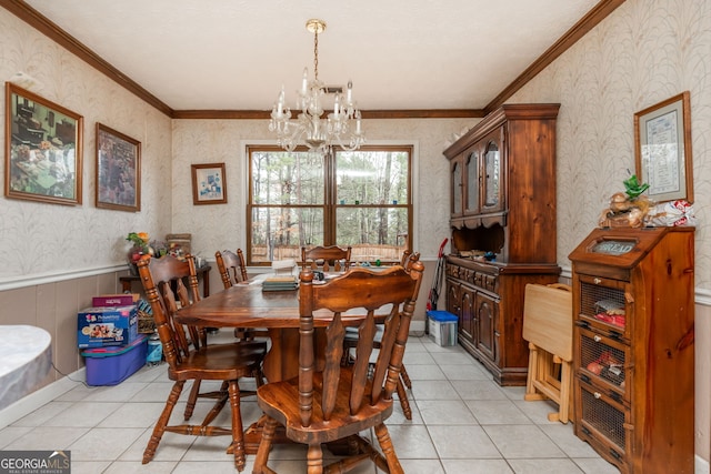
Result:
[[[141,210],[141,142],[98,122],[97,208]]]

